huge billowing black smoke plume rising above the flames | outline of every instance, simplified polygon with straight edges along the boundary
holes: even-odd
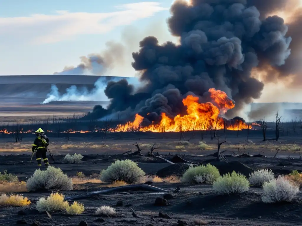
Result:
[[[157,121],[162,112],[170,117],[185,114],[182,99],[188,94],[204,101],[207,90],[216,88],[235,101],[235,108],[228,111],[228,117],[234,117],[245,103],[261,96],[264,83],[251,77],[252,68],[269,64],[287,70],[296,34],[288,35],[282,18],[267,17],[284,4],[281,0],[175,2],[168,25],[180,45],[159,45],[156,37],[144,38],[139,52],[132,54],[132,66],[146,85],[134,93],[125,80],[109,82],[108,111],[130,109],[147,122]]]

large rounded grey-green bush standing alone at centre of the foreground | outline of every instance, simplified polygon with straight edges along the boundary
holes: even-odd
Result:
[[[114,181],[124,181],[127,184],[142,183],[145,180],[145,172],[136,162],[129,159],[116,160],[106,170],[101,171],[100,180],[106,183]]]

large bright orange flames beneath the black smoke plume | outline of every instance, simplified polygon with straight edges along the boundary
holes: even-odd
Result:
[[[158,124],[153,123],[143,127],[141,123],[144,118],[136,114],[133,122],[127,122],[124,125],[119,124],[111,131],[180,132],[209,129],[219,130],[223,128],[228,130],[252,129],[251,126],[239,119],[235,121],[234,124],[227,125],[225,120],[220,117],[220,114],[234,108],[235,104],[228,98],[226,93],[221,90],[211,88],[209,89],[209,93],[212,101],[207,103],[199,103],[199,97],[191,95],[183,99],[182,103],[187,107],[187,115],[176,115],[171,119],[163,112],[161,113],[161,121]]]

